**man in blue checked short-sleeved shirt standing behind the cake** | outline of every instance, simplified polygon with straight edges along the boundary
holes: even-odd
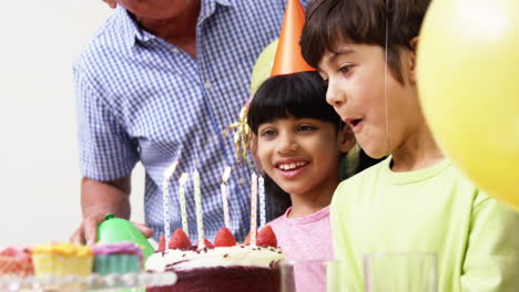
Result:
[[[172,230],[181,227],[177,179],[201,173],[205,236],[223,226],[220,178],[227,182],[232,231],[248,232],[250,177],[222,132],[248,98],[250,74],[261,51],[277,38],[285,0],[105,0],[115,13],[74,64],[83,221],[74,242],[94,242],[105,213],[130,218],[130,177],[146,170],[145,220],[163,233],[163,173]],[[308,0],[303,0],[306,6]],[[196,239],[192,184],[187,185],[190,238]],[[267,219],[277,216],[267,202]],[[281,211],[281,210],[279,210]]]

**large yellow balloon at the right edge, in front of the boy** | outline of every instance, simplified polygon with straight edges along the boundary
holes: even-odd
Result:
[[[428,124],[481,189],[519,209],[519,1],[434,0],[418,44]]]

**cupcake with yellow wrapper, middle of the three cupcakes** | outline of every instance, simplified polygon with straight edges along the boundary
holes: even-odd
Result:
[[[93,252],[90,247],[64,243],[44,243],[32,250],[34,273],[49,275],[89,275],[92,273]]]

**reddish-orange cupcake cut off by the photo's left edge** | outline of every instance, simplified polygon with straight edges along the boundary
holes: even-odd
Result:
[[[0,250],[0,275],[24,278],[34,274],[29,249],[6,248]]]

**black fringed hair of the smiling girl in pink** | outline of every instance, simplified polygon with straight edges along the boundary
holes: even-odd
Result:
[[[339,129],[340,116],[326,103],[326,85],[317,72],[273,76],[257,88],[247,116],[254,134],[262,124],[288,117],[316,118]]]

